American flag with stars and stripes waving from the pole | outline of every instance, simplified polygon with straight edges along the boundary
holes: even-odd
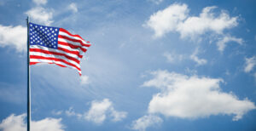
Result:
[[[52,26],[40,26],[29,23],[30,65],[49,63],[70,67],[79,71],[80,60],[83,58],[90,42],[79,35]]]

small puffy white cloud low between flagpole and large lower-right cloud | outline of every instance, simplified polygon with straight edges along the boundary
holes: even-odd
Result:
[[[101,124],[109,116],[109,113],[110,117],[113,117],[113,122],[121,121],[127,115],[125,111],[115,111],[112,102],[104,99],[102,101],[92,101],[90,110],[84,113],[84,118],[88,121]]]

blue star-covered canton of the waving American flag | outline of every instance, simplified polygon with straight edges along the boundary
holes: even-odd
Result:
[[[58,35],[60,28],[40,26],[29,23],[30,45],[41,45],[47,48],[58,48]]]

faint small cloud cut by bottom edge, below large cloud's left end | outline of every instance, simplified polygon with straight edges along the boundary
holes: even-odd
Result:
[[[160,124],[163,120],[154,115],[147,115],[138,118],[131,123],[131,128],[134,130],[145,131],[146,128]]]

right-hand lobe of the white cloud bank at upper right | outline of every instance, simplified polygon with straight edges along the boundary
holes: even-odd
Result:
[[[212,13],[212,9],[216,9],[216,7],[206,7],[199,16],[190,16],[187,20],[179,23],[177,31],[180,32],[181,37],[196,37],[207,31],[221,34],[224,29],[237,26],[237,17],[230,18],[230,15],[224,11],[216,17],[216,14]]]

